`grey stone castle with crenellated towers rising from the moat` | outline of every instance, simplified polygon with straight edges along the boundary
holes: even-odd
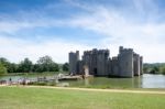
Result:
[[[143,74],[143,57],[132,48],[119,47],[119,54],[110,58],[109,50],[85,51],[82,59],[79,52],[69,53],[69,73],[84,75],[89,72],[94,76],[134,77]]]

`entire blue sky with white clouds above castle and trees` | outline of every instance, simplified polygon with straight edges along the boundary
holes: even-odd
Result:
[[[0,0],[0,56],[19,63],[68,52],[132,47],[145,63],[165,62],[164,0]]]

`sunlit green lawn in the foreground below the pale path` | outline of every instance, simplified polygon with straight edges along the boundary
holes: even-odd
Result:
[[[0,87],[0,109],[165,109],[165,95]]]

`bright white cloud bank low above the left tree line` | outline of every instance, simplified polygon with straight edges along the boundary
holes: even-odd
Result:
[[[91,46],[55,39],[37,44],[18,39],[0,37],[0,56],[16,63],[25,57],[29,57],[35,63],[38,57],[45,55],[52,56],[57,63],[65,63],[68,61],[68,53],[70,51],[75,52],[79,50],[82,54],[82,51],[92,48]]]

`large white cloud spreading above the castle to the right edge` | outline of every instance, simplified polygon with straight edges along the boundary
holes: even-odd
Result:
[[[153,14],[152,19],[154,18],[156,19]],[[135,52],[144,56],[147,63],[165,62],[165,44],[162,41],[165,34],[165,23],[153,21],[140,23],[129,17],[123,17],[118,11],[97,7],[95,11],[86,15],[76,17],[70,25],[107,35],[99,45],[110,46],[112,55],[117,55],[118,47],[123,45],[133,47]]]

